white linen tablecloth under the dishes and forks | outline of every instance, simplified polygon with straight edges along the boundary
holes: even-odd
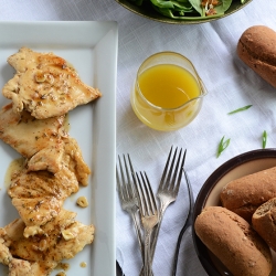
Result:
[[[248,26],[264,24],[276,30],[275,14],[275,2],[263,0],[253,0],[224,19],[194,25],[149,21],[114,0],[2,0],[0,8],[1,21],[117,21],[117,153],[128,152],[135,169],[147,171],[156,191],[170,147],[187,149],[185,168],[194,198],[206,178],[223,162],[262,148],[264,130],[268,135],[267,147],[276,146],[276,89],[236,55],[237,41]],[[129,102],[139,65],[160,51],[174,51],[190,59],[209,91],[199,116],[188,127],[172,132],[156,131],[142,125]],[[244,113],[227,115],[227,112],[246,105],[253,106]],[[231,142],[216,158],[223,136],[231,138]],[[117,259],[126,276],[137,276],[141,258],[134,225],[121,210],[118,197],[116,199]],[[179,197],[168,208],[160,230],[153,262],[157,276],[171,274],[177,236],[188,206],[187,188],[182,182]],[[206,275],[195,254],[191,230],[181,244],[178,275]]]

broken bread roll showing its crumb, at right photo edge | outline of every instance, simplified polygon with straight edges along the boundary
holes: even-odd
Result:
[[[252,225],[276,252],[276,198],[262,204],[252,216]]]

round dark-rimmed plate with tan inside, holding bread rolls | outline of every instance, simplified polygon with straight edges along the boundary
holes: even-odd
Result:
[[[236,156],[219,167],[201,188],[195,204],[193,222],[204,206],[221,205],[220,193],[230,181],[276,166],[276,149],[259,149]],[[206,248],[192,231],[193,243],[199,259],[210,276],[231,275],[221,262]],[[270,276],[276,275],[276,257]]]

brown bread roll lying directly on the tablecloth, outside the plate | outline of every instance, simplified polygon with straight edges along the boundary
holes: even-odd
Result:
[[[265,25],[248,28],[237,43],[237,55],[276,87],[276,32]]]

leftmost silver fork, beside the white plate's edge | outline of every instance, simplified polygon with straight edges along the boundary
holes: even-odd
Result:
[[[123,159],[125,164],[125,172],[119,156],[118,156],[119,171],[116,166],[116,179],[117,179],[117,189],[119,193],[120,205],[123,210],[127,211],[130,214],[134,221],[138,244],[140,247],[140,252],[142,253],[144,245],[141,240],[141,225],[139,220],[139,208],[138,208],[138,199],[136,190],[137,180],[129,155],[127,155],[128,164],[125,155],[123,155]]]

